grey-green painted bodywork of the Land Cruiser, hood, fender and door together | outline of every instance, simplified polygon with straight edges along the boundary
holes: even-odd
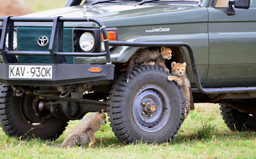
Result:
[[[256,82],[256,7],[235,9],[236,14],[234,16],[227,16],[224,8],[210,7],[212,1],[204,0],[201,7],[198,7],[197,3],[183,2],[173,4],[148,3],[149,5],[137,5],[138,2],[136,1],[132,3],[126,1],[122,3],[110,2],[88,5],[87,16],[98,18],[106,27],[116,27],[120,41],[188,43],[193,48],[203,87],[254,86]],[[252,0],[252,6],[255,5],[255,1]],[[55,16],[83,17],[84,14],[82,13],[82,6],[73,6],[25,15],[24,17]],[[52,23],[18,22],[14,25],[42,27],[52,26]],[[98,27],[91,22],[65,22],[64,26]],[[145,30],[160,27],[170,28],[170,32],[145,32]],[[33,35],[31,30],[27,31],[27,34],[27,36]],[[18,36],[20,36],[19,33]],[[67,40],[72,41],[72,35]],[[24,42],[24,44],[29,43]],[[65,45],[72,47],[70,43],[65,43],[63,46]],[[26,46],[24,45],[24,47]],[[111,61],[113,63],[127,62],[142,47],[115,47],[110,50]],[[40,51],[42,51],[41,48]],[[184,51],[187,57],[189,78],[193,84],[194,77],[189,55],[186,49]],[[106,59],[105,57],[75,57],[75,63],[104,64]],[[244,78],[245,75],[246,79]],[[195,86],[192,85],[192,87]]]

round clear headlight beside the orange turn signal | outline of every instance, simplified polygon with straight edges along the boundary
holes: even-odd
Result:
[[[85,32],[80,36],[79,44],[82,50],[90,51],[94,46],[94,37],[91,33]]]

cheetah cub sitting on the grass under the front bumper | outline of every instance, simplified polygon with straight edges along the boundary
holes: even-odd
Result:
[[[67,138],[60,144],[48,143],[47,145],[53,145],[58,147],[74,147],[75,145],[81,145],[86,142],[90,142],[89,147],[95,147],[94,133],[100,129],[100,124],[105,125],[106,115],[103,113],[103,109],[100,112],[95,112],[88,115],[81,120],[71,132]]]

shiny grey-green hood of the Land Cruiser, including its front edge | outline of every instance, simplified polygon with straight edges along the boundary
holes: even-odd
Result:
[[[88,5],[87,6],[87,17],[98,18],[103,21],[112,21],[112,25],[114,21],[117,19],[123,18],[132,18],[133,20],[138,17],[145,17],[148,15],[158,15],[170,12],[184,11],[197,9],[196,6],[173,6],[173,5],[128,5],[128,4],[116,4],[116,5]],[[82,12],[82,6],[73,6],[73,7],[65,7],[59,9],[53,9],[38,13],[33,13],[29,15],[24,15],[21,17],[84,17],[84,13]],[[138,18],[139,19],[139,18]],[[153,19],[152,19],[153,20]],[[15,26],[51,26],[52,23],[15,23]],[[106,25],[106,24],[105,24]],[[92,23],[73,23],[68,22],[64,24],[64,26],[70,27],[92,27]],[[107,26],[107,25],[106,25]],[[116,25],[115,25],[116,26]]]

